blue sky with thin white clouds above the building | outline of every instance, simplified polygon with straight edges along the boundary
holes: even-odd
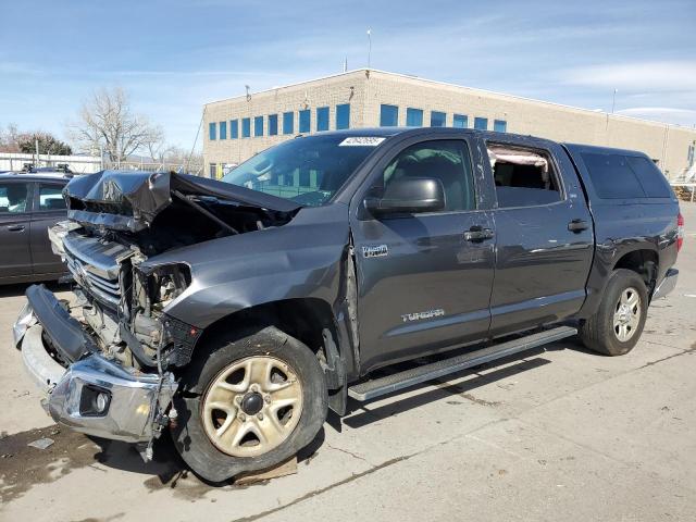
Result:
[[[696,125],[696,1],[0,0],[0,128],[66,139],[121,86],[190,148],[206,102],[371,66]],[[200,148],[200,137],[197,148]]]

